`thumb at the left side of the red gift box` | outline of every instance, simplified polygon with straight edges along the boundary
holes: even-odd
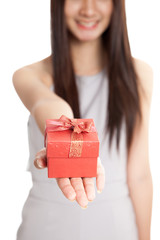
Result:
[[[34,166],[38,169],[47,167],[46,148],[42,148],[35,156]]]

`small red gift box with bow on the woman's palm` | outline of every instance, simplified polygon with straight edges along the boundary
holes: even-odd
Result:
[[[96,177],[99,140],[93,119],[47,119],[49,178]]]

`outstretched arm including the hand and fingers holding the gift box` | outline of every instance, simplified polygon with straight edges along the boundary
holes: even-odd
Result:
[[[57,96],[43,83],[42,76],[30,67],[24,67],[13,74],[13,84],[26,108],[34,116],[42,134],[45,130],[45,120],[56,119],[61,115],[73,118],[73,112],[66,101]],[[35,167],[47,167],[46,149],[40,150],[34,161]],[[57,178],[57,184],[65,197],[78,202],[81,207],[95,198],[93,178]],[[97,161],[97,189],[102,191],[105,183],[104,167]]]

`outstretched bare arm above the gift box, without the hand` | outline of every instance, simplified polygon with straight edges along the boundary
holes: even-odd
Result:
[[[45,120],[56,119],[61,115],[73,118],[69,104],[56,95],[43,83],[42,76],[31,67],[23,67],[13,74],[13,85],[25,107],[34,116],[44,134]]]

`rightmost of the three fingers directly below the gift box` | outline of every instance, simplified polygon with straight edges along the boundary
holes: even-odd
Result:
[[[93,178],[83,178],[83,185],[85,188],[85,192],[88,198],[88,201],[93,201],[95,198],[95,187],[94,187],[94,179]]]

